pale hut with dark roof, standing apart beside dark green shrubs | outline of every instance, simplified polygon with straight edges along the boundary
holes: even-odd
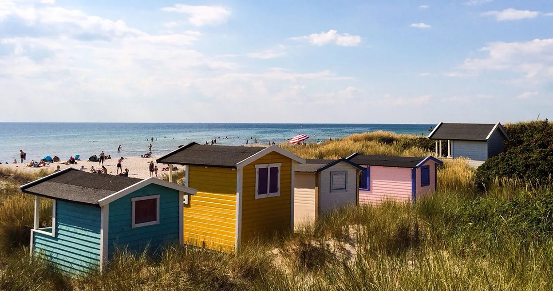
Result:
[[[448,158],[468,158],[469,164],[479,166],[503,152],[503,142],[509,136],[501,123],[443,123],[428,136],[436,141],[436,156],[442,155],[442,141],[447,141]]]

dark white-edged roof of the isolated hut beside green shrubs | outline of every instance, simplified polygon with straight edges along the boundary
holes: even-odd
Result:
[[[499,129],[504,139],[509,139],[501,123],[443,123],[440,122],[429,134],[429,139],[450,139],[452,141],[488,140]]]

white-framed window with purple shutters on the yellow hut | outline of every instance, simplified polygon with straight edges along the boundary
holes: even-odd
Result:
[[[255,165],[255,199],[280,196],[280,165]]]

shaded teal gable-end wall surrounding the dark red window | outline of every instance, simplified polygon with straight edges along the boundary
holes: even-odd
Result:
[[[159,195],[159,224],[132,228],[132,198]],[[179,242],[179,191],[150,184],[109,203],[108,258],[116,248],[141,253]]]

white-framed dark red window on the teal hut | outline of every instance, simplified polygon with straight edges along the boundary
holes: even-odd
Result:
[[[132,198],[132,227],[159,224],[159,195]]]

